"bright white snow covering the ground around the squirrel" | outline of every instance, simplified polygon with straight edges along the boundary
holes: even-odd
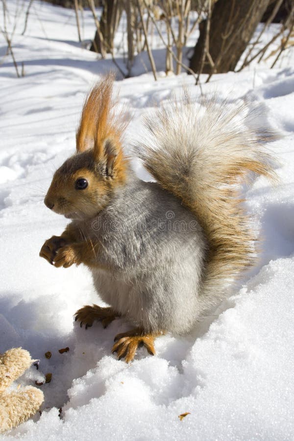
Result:
[[[16,1],[7,4],[13,10]],[[268,123],[285,134],[270,146],[279,182],[260,178],[245,192],[264,239],[260,260],[239,292],[191,335],[158,338],[156,356],[140,349],[127,365],[110,350],[114,335],[131,324],[117,319],[106,330],[97,323],[85,331],[73,322],[78,308],[99,302],[87,269],[56,269],[39,257],[44,240],[66,225],[43,203],[52,172],[74,151],[86,92],[113,65],[76,43],[71,10],[34,1],[21,36],[25,8],[13,38],[24,77],[16,78],[0,36],[0,352],[22,346],[40,359],[40,369],[30,368],[22,385],[42,381],[47,372],[52,381],[41,386],[42,415],[1,439],[293,440],[293,52],[285,52],[275,69],[264,64],[215,75],[203,85],[204,93],[229,102],[246,97],[263,103]],[[93,37],[89,11],[83,29],[85,39]],[[140,60],[138,66],[144,72]],[[183,84],[200,96],[192,76],[159,76],[158,82],[145,73],[115,84],[119,104],[134,115],[128,140],[140,134],[142,115]],[[134,166],[146,178],[140,164]],[[69,352],[60,354],[66,346]]]

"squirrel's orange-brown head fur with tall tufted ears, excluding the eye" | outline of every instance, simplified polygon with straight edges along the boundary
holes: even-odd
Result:
[[[113,79],[113,74],[102,78],[90,91],[76,132],[77,154],[55,172],[45,197],[51,210],[72,219],[95,216],[126,179],[128,160],[121,144],[126,123],[113,112]],[[78,179],[86,179],[87,188],[76,189]]]

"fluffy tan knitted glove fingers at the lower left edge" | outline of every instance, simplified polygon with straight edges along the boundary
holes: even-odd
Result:
[[[21,347],[0,354],[0,433],[35,415],[44,401],[43,392],[31,386],[17,392],[8,390],[33,362],[29,352]]]

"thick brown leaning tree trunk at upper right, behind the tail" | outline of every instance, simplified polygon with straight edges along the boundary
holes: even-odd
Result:
[[[205,51],[201,73],[211,75],[233,71],[269,2],[270,0],[218,0],[211,14],[208,47],[205,47],[206,21],[202,21],[190,68],[196,73],[201,71]]]

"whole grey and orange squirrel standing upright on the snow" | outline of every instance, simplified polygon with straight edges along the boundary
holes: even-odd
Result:
[[[71,222],[40,256],[92,272],[109,306],[79,309],[81,327],[95,320],[106,327],[117,317],[135,323],[112,347],[128,363],[139,345],[153,355],[156,337],[189,333],[254,262],[256,238],[238,184],[274,178],[264,144],[278,135],[254,127],[257,114],[245,103],[208,98],[197,107],[184,91],[180,102],[146,117],[134,146],[156,181],[145,182],[123,152],[126,124],[115,113],[113,80],[104,77],[88,94],[76,153],[53,176],[44,202]]]

